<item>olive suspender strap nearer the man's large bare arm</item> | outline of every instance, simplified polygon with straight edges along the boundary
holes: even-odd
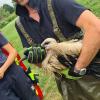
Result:
[[[54,13],[54,10],[52,7],[52,0],[47,0],[47,5],[48,5],[48,11],[49,11],[49,15],[52,20],[53,30],[54,30],[55,35],[58,37],[58,39],[60,41],[66,41],[67,39],[64,37],[64,35],[62,34],[62,32],[57,24],[55,13]]]

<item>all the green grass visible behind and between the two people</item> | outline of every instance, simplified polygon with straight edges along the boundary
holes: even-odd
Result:
[[[100,0],[77,0],[82,5],[91,9],[98,17],[100,17]],[[16,19],[15,19],[16,20]],[[22,55],[23,49],[20,38],[15,30],[15,20],[10,22],[2,29],[5,37],[13,44],[17,51]],[[43,89],[44,100],[62,100],[58,92],[54,78],[43,74],[43,71],[39,68],[35,68],[35,71],[40,74],[40,86]]]

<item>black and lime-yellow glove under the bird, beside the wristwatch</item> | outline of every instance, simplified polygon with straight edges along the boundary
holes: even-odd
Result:
[[[61,74],[63,74],[68,79],[73,79],[73,80],[80,79],[82,76],[74,72],[74,65],[77,61],[77,57],[75,55],[73,56],[67,55],[67,57],[68,60],[66,60],[64,56],[58,56],[59,62],[64,66],[67,66],[65,70],[61,71]]]

